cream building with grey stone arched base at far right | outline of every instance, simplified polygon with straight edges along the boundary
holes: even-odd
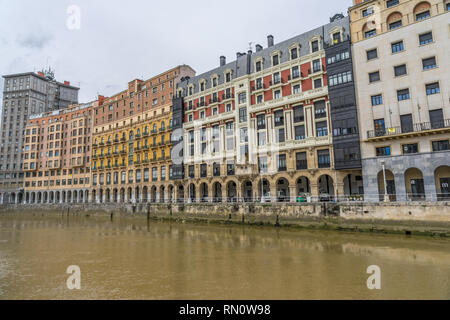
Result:
[[[368,201],[450,198],[449,9],[373,0],[349,10]]]

